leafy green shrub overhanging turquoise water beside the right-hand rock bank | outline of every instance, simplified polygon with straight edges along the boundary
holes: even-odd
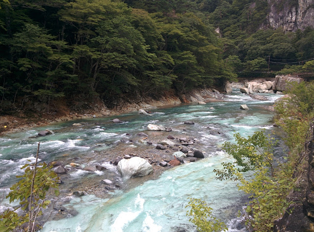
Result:
[[[249,195],[243,215],[248,229],[270,232],[274,220],[281,217],[290,204],[286,196],[293,186],[293,168],[290,162],[274,167],[270,152],[273,138],[264,132],[255,132],[247,139],[238,133],[234,137],[237,144],[225,142],[224,150],[235,161],[223,163],[223,170],[214,170],[216,178],[236,180],[238,189]]]

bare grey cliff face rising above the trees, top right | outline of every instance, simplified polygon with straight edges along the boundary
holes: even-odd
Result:
[[[314,0],[268,0],[271,27],[284,27],[286,31],[314,27]]]

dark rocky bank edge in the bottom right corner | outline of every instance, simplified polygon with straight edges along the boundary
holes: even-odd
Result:
[[[314,121],[309,134],[294,173],[295,186],[287,197],[292,204],[275,222],[274,232],[314,231]]]

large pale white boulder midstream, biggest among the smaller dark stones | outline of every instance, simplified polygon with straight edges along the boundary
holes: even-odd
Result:
[[[118,171],[123,178],[134,178],[146,176],[154,171],[153,166],[145,159],[133,157],[128,160],[121,160],[118,163]]]

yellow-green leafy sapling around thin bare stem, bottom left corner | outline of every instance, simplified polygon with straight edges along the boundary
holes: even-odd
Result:
[[[49,204],[46,195],[49,189],[54,188],[54,194],[58,195],[58,177],[46,163],[36,168],[34,186],[32,192],[32,204],[29,205],[29,197],[31,195],[31,185],[34,176],[34,164],[25,164],[21,169],[25,169],[25,173],[21,176],[19,182],[10,187],[10,192],[6,198],[10,199],[10,203],[18,201],[20,206],[14,209],[7,209],[0,214],[0,231],[9,232],[21,229],[23,223],[31,221],[34,223],[36,217],[41,215],[41,209],[45,209]],[[24,215],[19,215],[17,209],[27,210]],[[31,212],[31,218],[29,218]],[[30,224],[32,225],[32,224]],[[30,230],[32,231],[32,230]]]

